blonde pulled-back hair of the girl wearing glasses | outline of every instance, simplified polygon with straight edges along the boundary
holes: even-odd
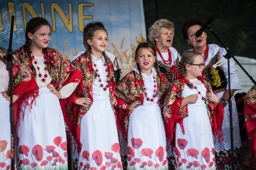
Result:
[[[180,75],[185,75],[186,77],[186,65],[187,64],[193,64],[196,56],[201,55],[200,53],[196,51],[185,51],[182,54],[181,60],[180,60]],[[201,55],[202,56],[202,55]],[[209,79],[203,78],[205,81],[211,82]],[[190,89],[193,89],[193,85],[190,83],[186,83]]]

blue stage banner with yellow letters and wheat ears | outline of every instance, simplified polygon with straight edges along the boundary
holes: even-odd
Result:
[[[0,46],[8,48],[10,21],[14,15],[12,48],[25,43],[26,23],[43,17],[52,26],[49,47],[58,49],[72,60],[83,51],[84,26],[103,22],[108,30],[107,51],[114,53],[123,69],[123,76],[132,69],[132,58],[139,42],[146,42],[142,0],[0,0]]]

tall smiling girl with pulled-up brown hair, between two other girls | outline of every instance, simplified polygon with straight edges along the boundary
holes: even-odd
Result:
[[[78,169],[122,169],[114,114],[115,79],[111,60],[106,56],[107,30],[95,22],[83,32],[85,53],[73,61],[81,71],[84,93],[73,106],[78,115],[74,137],[78,144]]]

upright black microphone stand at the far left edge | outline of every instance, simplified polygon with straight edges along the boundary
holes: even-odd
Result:
[[[12,34],[13,34],[14,16],[11,20],[11,30],[10,30],[10,42],[9,48],[6,53],[6,69],[9,71],[10,76],[10,123],[11,123],[11,170],[14,170],[14,111],[12,103]]]

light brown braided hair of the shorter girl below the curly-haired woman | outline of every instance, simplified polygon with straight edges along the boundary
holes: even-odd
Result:
[[[139,71],[139,73],[140,73],[140,77],[141,77],[141,79],[142,79],[142,74],[141,74],[140,65],[139,65],[139,63],[137,63],[137,59],[138,59],[138,57],[139,57],[139,51],[140,51],[141,48],[145,48],[145,49],[147,49],[148,51],[150,51],[150,52],[154,55],[154,57],[156,57],[156,49],[155,49],[154,45],[152,45],[151,43],[142,42],[142,43],[140,43],[140,44],[137,46],[137,48],[136,48],[136,50],[135,50],[133,65],[134,65],[134,67],[137,67],[137,68],[138,68],[138,71]],[[154,62],[153,67],[155,67],[155,69],[156,69],[156,74],[158,75],[158,77],[160,77],[160,75],[162,74],[162,72],[160,71],[160,68],[159,68],[159,66],[158,66],[157,59],[156,59],[156,61]],[[141,89],[142,89],[143,93],[146,93],[146,92],[144,91],[143,83],[141,83]],[[160,81],[159,90],[162,91],[163,89],[164,89],[164,83],[163,83],[162,81]]]

